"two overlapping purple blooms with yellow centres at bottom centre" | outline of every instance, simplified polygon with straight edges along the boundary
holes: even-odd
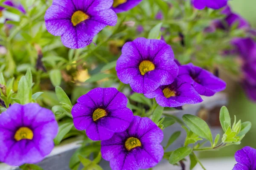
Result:
[[[74,105],[74,125],[102,140],[102,157],[113,170],[153,167],[163,158],[163,131],[151,119],[133,116],[127,102],[116,88],[95,88]]]

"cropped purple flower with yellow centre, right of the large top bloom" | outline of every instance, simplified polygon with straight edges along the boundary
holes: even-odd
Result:
[[[137,6],[142,0],[114,0],[112,9],[116,13],[128,11]]]

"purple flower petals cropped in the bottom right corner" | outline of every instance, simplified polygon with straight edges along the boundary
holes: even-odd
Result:
[[[256,149],[246,146],[236,152],[235,159],[233,170],[256,170]]]

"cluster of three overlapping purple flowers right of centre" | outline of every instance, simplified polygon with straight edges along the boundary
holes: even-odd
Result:
[[[226,88],[226,83],[209,71],[176,63],[171,46],[163,40],[137,38],[123,46],[116,72],[133,91],[156,98],[163,107],[199,103],[203,101],[199,94],[212,96]]]

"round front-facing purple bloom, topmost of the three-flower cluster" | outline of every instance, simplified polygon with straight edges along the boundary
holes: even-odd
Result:
[[[121,82],[130,84],[137,93],[151,93],[160,85],[169,85],[178,74],[174,54],[163,40],[137,38],[122,47],[116,62]]]

